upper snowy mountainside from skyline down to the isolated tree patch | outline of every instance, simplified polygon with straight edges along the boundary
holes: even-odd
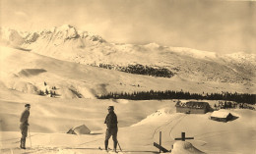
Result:
[[[196,81],[218,81],[255,86],[256,56],[238,53],[218,55],[184,47],[114,44],[74,26],[18,32],[1,28],[2,42],[52,58],[99,66],[100,64],[144,66],[168,69],[175,76]]]

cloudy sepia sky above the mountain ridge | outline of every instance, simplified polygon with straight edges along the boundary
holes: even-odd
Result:
[[[221,0],[0,0],[0,25],[69,24],[108,42],[256,53],[256,2]]]

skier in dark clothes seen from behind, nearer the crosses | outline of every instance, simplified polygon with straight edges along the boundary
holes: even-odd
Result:
[[[112,139],[113,139],[113,151],[116,152],[116,146],[117,146],[117,117],[114,113],[114,107],[113,106],[109,106],[107,108],[108,110],[108,114],[105,118],[105,122],[104,124],[106,124],[106,132],[105,132],[105,150],[107,151],[108,148],[108,139],[111,137],[112,135]]]

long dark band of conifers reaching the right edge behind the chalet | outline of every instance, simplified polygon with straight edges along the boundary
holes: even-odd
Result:
[[[131,99],[131,100],[152,100],[152,99],[197,99],[197,100],[226,100],[235,101],[237,103],[256,103],[256,94],[249,93],[190,93],[188,91],[134,91],[134,92],[109,92],[107,94],[97,96],[98,99]]]

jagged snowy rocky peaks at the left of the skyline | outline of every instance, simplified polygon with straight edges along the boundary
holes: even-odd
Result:
[[[59,45],[68,39],[81,39],[81,44],[78,46],[106,42],[99,35],[77,30],[75,26],[70,25],[53,26],[39,31],[17,31],[7,27],[0,27],[0,42],[11,46],[33,48],[34,45],[38,46],[38,44],[47,46],[49,44]]]

